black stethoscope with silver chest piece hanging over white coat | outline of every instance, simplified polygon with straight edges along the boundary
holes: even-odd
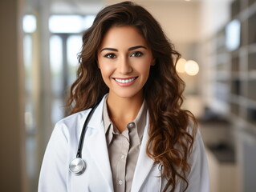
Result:
[[[71,162],[69,163],[69,170],[71,171],[71,173],[75,175],[83,174],[84,170],[86,169],[86,163],[82,159],[83,140],[84,140],[84,135],[87,129],[88,122],[90,121],[91,115],[93,114],[97,106],[98,104],[91,108],[91,111],[89,112],[89,114],[87,115],[87,118],[85,119],[85,122],[83,124],[83,130],[81,132],[80,139],[79,139],[79,146],[76,153],[76,158],[72,159]]]

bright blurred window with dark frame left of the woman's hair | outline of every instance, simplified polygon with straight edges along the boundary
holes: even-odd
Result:
[[[76,78],[82,33],[94,19],[94,15],[51,15],[49,18],[52,124],[65,116],[63,106],[67,91]]]

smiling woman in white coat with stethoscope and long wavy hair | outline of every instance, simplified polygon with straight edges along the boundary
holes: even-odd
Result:
[[[101,10],[83,34],[71,116],[51,135],[39,192],[208,192],[201,135],[181,110],[179,58],[141,6]]]

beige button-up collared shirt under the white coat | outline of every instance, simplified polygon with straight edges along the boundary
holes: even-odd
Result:
[[[143,102],[134,121],[129,122],[126,129],[120,133],[108,116],[106,101],[107,99],[104,102],[103,118],[113,186],[115,192],[128,192],[132,188],[132,178],[146,126],[147,107]]]

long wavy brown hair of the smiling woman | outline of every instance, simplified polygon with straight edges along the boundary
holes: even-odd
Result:
[[[180,179],[185,182],[186,190],[190,172],[188,158],[197,123],[193,114],[181,109],[185,83],[175,70],[181,54],[174,50],[159,23],[143,7],[133,2],[121,2],[107,6],[96,15],[92,26],[83,34],[77,79],[71,86],[67,106],[71,114],[87,110],[108,93],[108,86],[97,66],[97,50],[104,34],[112,26],[136,27],[152,49],[156,63],[151,66],[144,85],[144,99],[150,118],[146,152],[155,163],[163,166],[161,177],[168,181],[165,191],[170,186],[174,191]]]

